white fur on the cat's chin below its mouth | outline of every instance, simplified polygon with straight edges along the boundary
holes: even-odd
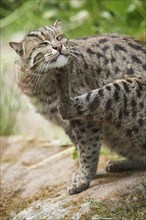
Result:
[[[62,66],[65,66],[67,62],[68,62],[68,57],[64,55],[59,55],[57,59],[55,60],[55,62],[49,63],[48,68],[51,69],[55,67],[62,67]]]

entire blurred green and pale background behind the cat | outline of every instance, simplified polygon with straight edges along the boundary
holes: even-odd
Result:
[[[51,25],[58,19],[69,38],[119,32],[146,42],[145,0],[1,0],[0,19],[1,135],[39,134],[54,139],[61,132],[53,132],[58,128],[50,129],[45,121],[40,128],[43,119],[29,110],[15,84],[16,55],[9,41],[21,40],[29,31]]]

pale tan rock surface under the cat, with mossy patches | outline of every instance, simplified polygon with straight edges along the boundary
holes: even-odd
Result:
[[[2,137],[2,219],[132,219],[126,210],[135,219],[145,216],[146,172],[106,173],[105,163],[116,156],[105,152],[90,188],[69,196],[66,188],[78,167],[73,150],[44,139]]]

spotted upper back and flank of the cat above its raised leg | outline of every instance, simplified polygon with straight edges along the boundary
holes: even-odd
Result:
[[[111,76],[115,79],[146,76],[146,46],[129,36],[103,34],[74,39],[71,43],[84,60],[86,71],[97,71],[98,78],[100,74],[106,75],[110,82]]]

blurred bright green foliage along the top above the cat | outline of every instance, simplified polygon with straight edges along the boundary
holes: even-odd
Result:
[[[28,32],[56,19],[69,37],[120,32],[142,38],[144,0],[1,0],[1,27],[7,34]]]

